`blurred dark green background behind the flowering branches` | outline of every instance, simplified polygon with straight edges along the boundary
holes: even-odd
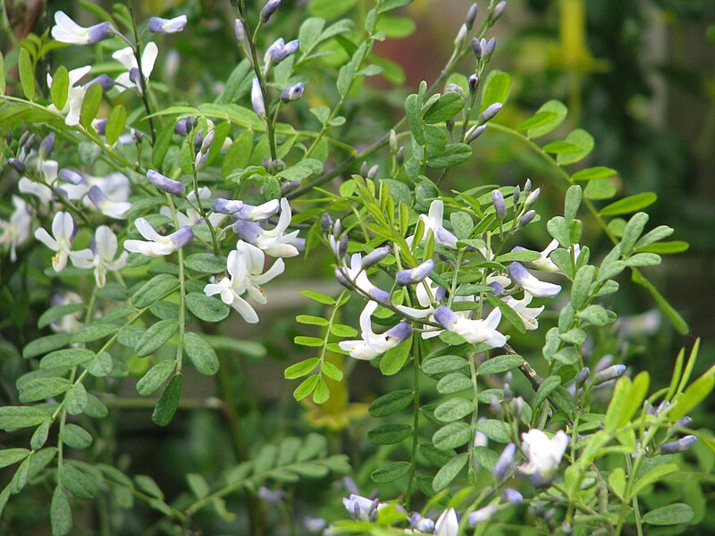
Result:
[[[284,29],[295,33],[299,21],[312,13],[318,2],[325,4],[323,0],[284,0],[282,19],[270,28],[272,38],[284,35]],[[18,40],[29,31],[40,33],[46,29],[50,12],[60,9],[80,23],[94,23],[94,16],[80,9],[79,4],[53,0],[46,9],[39,1],[4,0],[5,13]],[[97,4],[111,7],[111,2]],[[369,3],[341,0],[335,4],[347,5],[347,13],[357,12],[360,16],[363,6]],[[431,82],[439,75],[470,4],[467,0],[415,0],[400,10],[400,21],[391,24],[388,32],[390,38],[375,48],[383,58],[385,74],[371,79],[356,97],[356,105],[348,108],[351,130],[346,133],[347,141],[366,147],[373,141],[370,136],[374,137],[374,132],[383,132],[400,119],[405,96],[416,90],[420,80]],[[242,59],[233,39],[234,15],[228,0],[147,0],[135,6],[142,18],[155,14],[189,15],[186,32],[162,48],[164,63],[157,64],[157,70],[163,71],[164,83],[153,84],[161,100],[194,104],[220,94],[223,81]],[[484,9],[484,1],[480,7]],[[341,8],[336,13],[341,15]],[[512,78],[508,105],[497,121],[514,126],[550,99],[564,102],[568,105],[568,118],[556,134],[563,136],[575,128],[592,133],[596,145],[585,165],[618,170],[619,195],[655,192],[658,202],[648,209],[649,225],[668,224],[676,229],[672,239],[685,240],[690,245],[682,253],[665,255],[663,264],[647,270],[650,279],[689,322],[690,334],[678,335],[659,313],[652,297],[627,277],[621,277],[621,290],[613,303],[607,304],[622,315],[618,341],[602,348],[601,341],[594,341],[594,356],[614,355],[635,370],[649,370],[655,389],[669,380],[677,349],[691,347],[694,338],[701,337],[701,358],[695,373],[701,372],[715,362],[715,2],[509,0],[494,35],[498,45],[490,68],[507,71]],[[285,37],[293,38],[290,33]],[[4,50],[12,46],[12,41],[10,36],[0,35]],[[266,41],[270,43],[268,38]],[[59,63],[80,66],[84,63],[80,63],[78,54],[86,54],[88,57],[81,59],[91,60],[90,50],[73,47],[56,51],[52,62],[55,68]],[[110,67],[99,63],[97,71],[103,69]],[[472,69],[473,62],[467,60],[458,71],[468,75]],[[304,96],[307,104],[334,103],[332,94],[310,89],[311,81],[313,87],[320,87],[320,72],[311,72],[310,77]],[[245,94],[239,95],[244,101]],[[370,103],[369,113],[362,109],[360,113],[364,115],[349,115],[366,102]],[[306,112],[307,105],[285,121],[311,121]],[[390,119],[393,121],[386,122]],[[492,131],[474,147],[475,156],[450,172],[445,190],[488,183],[514,186],[530,177],[545,193],[539,202],[540,213],[559,214],[566,186],[544,169],[526,147],[517,147],[511,139]],[[340,160],[335,158],[334,163]],[[379,162],[380,157],[375,157],[370,164]],[[549,241],[544,224],[531,233],[533,247]],[[592,249],[597,255],[606,251],[605,237],[587,216],[585,241],[589,245],[594,241]],[[269,305],[262,312],[260,327],[249,331],[245,324],[231,325],[232,335],[251,342],[240,342],[236,358],[227,364],[234,372],[229,390],[236,393],[232,403],[238,407],[247,437],[257,438],[257,442],[273,441],[291,431],[324,431],[332,448],[359,456],[365,442],[366,404],[397,387],[400,379],[378,380],[378,371],[358,367],[350,378],[349,393],[332,386],[331,401],[316,408],[297,405],[291,397],[295,386],[282,377],[288,364],[307,357],[305,348],[292,345],[293,337],[305,331],[292,317],[309,314],[311,307],[297,289],[320,289],[326,293],[338,289],[329,264],[324,251],[287,263],[293,279],[281,280],[267,289]],[[352,306],[356,312],[360,308],[357,303]],[[40,312],[41,307],[37,304]],[[12,326],[11,319],[4,323],[4,330]],[[515,340],[517,344],[533,344],[518,337]],[[13,371],[8,372],[8,367],[16,366],[13,362],[5,360],[0,365],[5,378],[13,376]],[[353,366],[354,363],[343,363],[348,371]],[[231,441],[222,427],[222,415],[211,409],[187,411],[171,427],[158,430],[149,421],[147,407],[141,406],[146,400],[137,398],[130,383],[118,397],[136,399],[137,410],[123,411],[121,426],[112,428],[118,441],[116,452],[122,453],[128,470],[158,472],[156,478],[165,489],[180,490],[185,487],[181,482],[183,473],[211,474],[230,462],[233,454],[226,445]],[[186,407],[201,406],[216,389],[219,388],[212,379],[191,379],[184,391]],[[711,403],[711,409],[712,406]],[[694,417],[695,427],[712,428],[706,412]],[[206,441],[207,437],[212,441]],[[161,453],[157,445],[162,446]],[[698,456],[707,457],[703,453]],[[366,466],[366,474],[372,469]],[[317,497],[326,492],[331,490],[314,488],[300,494]],[[25,507],[30,508],[36,498],[21,495],[20,502],[23,500],[29,502]],[[706,513],[704,500],[701,516]],[[22,505],[15,508],[18,513],[22,511]],[[15,519],[20,523],[14,525],[18,533],[32,530],[27,519]],[[126,533],[132,533],[131,526],[128,523]]]

